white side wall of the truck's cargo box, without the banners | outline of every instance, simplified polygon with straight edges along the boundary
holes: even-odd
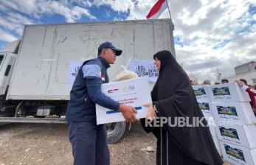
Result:
[[[97,57],[105,41],[123,50],[110,80],[130,57],[148,60],[162,49],[175,55],[172,27],[170,19],[26,26],[7,99],[69,99],[69,62]]]

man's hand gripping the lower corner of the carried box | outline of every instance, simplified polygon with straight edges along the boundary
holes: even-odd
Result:
[[[136,122],[136,109],[132,106],[128,105],[120,105],[119,106],[120,112],[122,112],[122,116],[124,116],[126,122]]]

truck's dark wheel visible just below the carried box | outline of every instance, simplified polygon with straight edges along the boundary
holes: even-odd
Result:
[[[108,144],[116,144],[125,133],[126,122],[112,122],[106,124]]]

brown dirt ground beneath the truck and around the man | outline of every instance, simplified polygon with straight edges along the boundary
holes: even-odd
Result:
[[[133,124],[118,144],[110,144],[109,150],[113,165],[156,164],[156,139],[145,133],[139,123]],[[66,124],[0,126],[0,165],[63,165],[72,161]]]

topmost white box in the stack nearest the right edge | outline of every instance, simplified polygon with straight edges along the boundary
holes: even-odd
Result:
[[[239,88],[236,82],[207,86],[212,102],[249,102],[247,92]]]

